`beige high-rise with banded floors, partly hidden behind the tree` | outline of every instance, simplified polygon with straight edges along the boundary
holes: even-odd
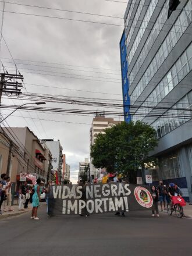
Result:
[[[105,133],[105,129],[108,127],[112,127],[113,125],[117,125],[121,121],[116,121],[113,118],[105,118],[104,115],[97,113],[95,118],[93,119],[91,129],[90,129],[90,147],[94,145],[94,141],[97,138],[99,133]],[[97,177],[98,170],[94,167],[92,163],[93,159],[90,159],[90,182],[93,181]]]

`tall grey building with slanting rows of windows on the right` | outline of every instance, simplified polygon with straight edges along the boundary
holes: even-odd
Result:
[[[180,1],[169,19],[168,9],[169,0],[129,1],[120,50],[129,63],[131,119],[150,124],[159,139],[152,152],[159,168],[148,172],[192,201],[192,0]]]

